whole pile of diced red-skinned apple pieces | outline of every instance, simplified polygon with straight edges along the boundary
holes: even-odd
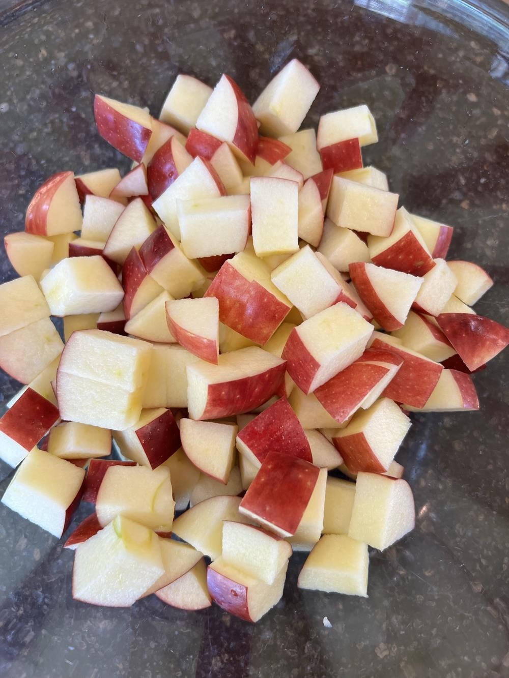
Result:
[[[509,341],[470,308],[492,281],[362,167],[366,106],[297,132],[318,88],[293,60],[252,107],[227,75],[179,75],[159,120],[96,96],[132,171],[52,176],[5,238],[0,365],[27,386],[3,503],[58,537],[95,504],[66,543],[77,600],[256,621],[293,550],[301,588],[365,596],[368,546],[414,525],[408,412],[478,409],[470,373]],[[100,459],[112,434],[131,461]]]

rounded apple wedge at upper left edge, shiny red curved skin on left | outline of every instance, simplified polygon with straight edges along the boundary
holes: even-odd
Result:
[[[79,196],[73,172],[58,172],[37,188],[26,208],[24,230],[34,235],[60,235],[81,228]]]

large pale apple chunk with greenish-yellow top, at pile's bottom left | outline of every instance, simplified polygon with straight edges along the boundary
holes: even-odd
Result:
[[[124,516],[76,549],[73,598],[105,607],[130,607],[164,575],[157,534]]]

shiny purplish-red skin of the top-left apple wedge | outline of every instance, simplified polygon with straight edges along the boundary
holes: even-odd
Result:
[[[140,162],[147,150],[152,130],[127,118],[107,104],[102,96],[94,97],[97,131],[117,151]]]

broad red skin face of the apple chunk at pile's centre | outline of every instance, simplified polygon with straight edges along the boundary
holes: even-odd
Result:
[[[265,344],[276,332],[290,308],[256,280],[248,281],[225,262],[206,291],[219,300],[219,319],[257,344]]]

